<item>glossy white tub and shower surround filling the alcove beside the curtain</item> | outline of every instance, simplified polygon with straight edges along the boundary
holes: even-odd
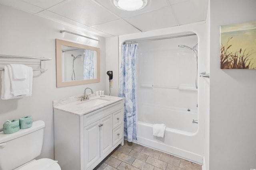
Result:
[[[196,35],[139,43],[137,143],[202,164],[203,129],[198,124],[195,87]],[[154,69],[152,69],[154,68]],[[163,78],[164,77],[164,78]],[[151,86],[151,85],[150,85]],[[154,124],[165,124],[162,138],[153,136]]]

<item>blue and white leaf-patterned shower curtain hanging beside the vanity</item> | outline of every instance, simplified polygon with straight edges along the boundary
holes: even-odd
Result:
[[[138,44],[123,45],[118,96],[124,98],[124,136],[137,140],[136,55]]]

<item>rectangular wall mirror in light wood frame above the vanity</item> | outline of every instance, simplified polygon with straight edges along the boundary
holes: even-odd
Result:
[[[100,49],[56,39],[57,87],[100,82]]]

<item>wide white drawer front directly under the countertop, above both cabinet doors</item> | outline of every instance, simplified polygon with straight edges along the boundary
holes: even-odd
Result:
[[[123,102],[119,101],[84,115],[84,127],[114,113],[115,111],[122,110],[122,107]]]

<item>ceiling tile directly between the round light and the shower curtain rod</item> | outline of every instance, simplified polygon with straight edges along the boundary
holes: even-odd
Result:
[[[170,7],[128,17],[125,18],[125,20],[141,31],[150,31],[178,25],[170,10]]]

